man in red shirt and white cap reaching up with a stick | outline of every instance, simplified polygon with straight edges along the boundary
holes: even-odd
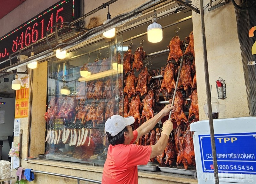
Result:
[[[108,136],[108,154],[102,174],[102,184],[138,184],[138,165],[146,165],[150,158],[163,153],[172,131],[170,120],[163,124],[162,135],[155,145],[140,146],[133,144],[141,136],[152,130],[158,121],[174,109],[166,105],[156,116],[132,131],[132,116],[113,115],[105,123]]]

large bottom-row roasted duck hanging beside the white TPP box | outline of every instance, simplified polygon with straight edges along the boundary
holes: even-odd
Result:
[[[180,152],[177,156],[177,166],[182,163],[185,169],[188,169],[188,165],[195,166],[195,152],[194,152],[194,145],[193,145],[193,138],[190,132],[190,125],[184,135],[179,138],[180,143]]]

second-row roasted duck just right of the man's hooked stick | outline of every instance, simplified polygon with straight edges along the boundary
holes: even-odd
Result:
[[[179,70],[180,66],[178,67]],[[180,71],[180,79],[178,83],[178,88],[182,88],[186,91],[188,86],[193,87],[193,81],[191,77],[191,62],[189,58],[185,58]]]

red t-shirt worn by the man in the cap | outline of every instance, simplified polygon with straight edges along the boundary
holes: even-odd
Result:
[[[102,184],[138,184],[137,166],[148,163],[152,147],[132,144],[138,137],[137,130],[133,131],[133,136],[129,145],[108,146]]]

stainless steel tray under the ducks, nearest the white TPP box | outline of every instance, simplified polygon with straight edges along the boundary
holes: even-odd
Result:
[[[170,167],[170,166],[164,166],[164,165],[161,165],[161,166],[158,166],[158,167],[162,172],[165,172],[165,173],[174,173],[174,174],[184,174],[184,175],[196,176],[195,168],[190,168],[189,167],[188,169],[181,169],[181,168],[177,168],[177,167],[174,167],[174,166]],[[191,170],[191,169],[193,169],[193,170]]]

